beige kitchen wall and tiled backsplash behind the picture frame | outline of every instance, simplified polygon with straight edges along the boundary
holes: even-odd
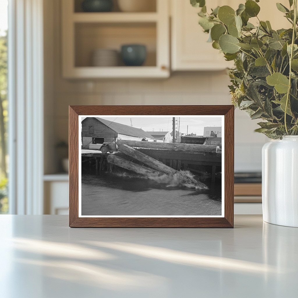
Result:
[[[222,72],[174,73],[159,80],[64,80],[60,61],[60,1],[54,0],[55,142],[68,139],[69,105],[223,105],[231,104],[229,77]],[[47,51],[51,52],[51,51]],[[235,171],[260,171],[266,136],[254,133],[257,120],[235,110]]]

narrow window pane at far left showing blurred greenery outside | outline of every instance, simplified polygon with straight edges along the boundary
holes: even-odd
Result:
[[[0,0],[0,214],[8,213],[7,0]]]

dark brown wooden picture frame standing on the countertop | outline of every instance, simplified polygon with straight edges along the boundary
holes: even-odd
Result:
[[[81,217],[79,216],[79,116],[172,115],[222,116],[224,119],[224,212],[218,217]],[[162,116],[160,116],[162,115]],[[128,116],[128,117],[129,117]],[[181,116],[181,117],[183,117]],[[180,117],[180,116],[178,116]],[[205,116],[209,117],[209,116]],[[81,118],[80,118],[81,119]],[[174,131],[174,130],[173,130]],[[176,134],[176,132],[175,132]],[[83,139],[83,137],[82,137]],[[232,228],[234,225],[234,106],[233,105],[123,105],[69,106],[69,226]]]

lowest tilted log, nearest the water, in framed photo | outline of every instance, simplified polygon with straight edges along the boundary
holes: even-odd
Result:
[[[122,157],[117,156],[117,154],[109,154],[107,156],[107,161],[111,164],[115,164],[118,167],[122,167],[126,170],[133,171],[138,174],[149,176],[160,176],[162,173],[152,170],[148,167],[141,166],[139,164],[135,164],[134,162],[123,159]]]

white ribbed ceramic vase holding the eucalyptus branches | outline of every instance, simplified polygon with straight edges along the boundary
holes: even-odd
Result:
[[[298,136],[266,143],[262,164],[263,220],[298,227]]]

